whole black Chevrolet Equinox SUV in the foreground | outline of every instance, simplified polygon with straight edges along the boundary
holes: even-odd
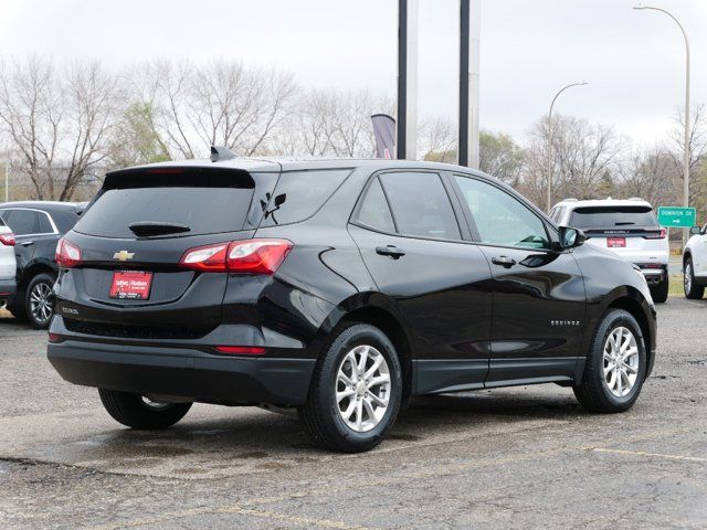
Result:
[[[558,383],[594,412],[636,401],[645,279],[509,187],[429,162],[213,158],[107,174],[59,247],[49,359],[118,422],[291,407],[357,452],[412,395]]]

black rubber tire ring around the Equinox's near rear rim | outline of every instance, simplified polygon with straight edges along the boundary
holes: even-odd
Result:
[[[338,403],[336,402],[339,365],[346,354],[358,346],[372,346],[380,351],[388,363],[391,382],[390,400],[386,414],[378,425],[365,433],[357,433],[345,423],[339,414]],[[323,381],[326,384],[323,398],[326,400],[326,406],[329,411],[328,416],[338,434],[346,438],[348,444],[356,447],[378,444],[394,424],[400,410],[402,395],[400,361],[388,337],[379,329],[368,325],[358,325],[347,329],[329,348],[323,375]]]

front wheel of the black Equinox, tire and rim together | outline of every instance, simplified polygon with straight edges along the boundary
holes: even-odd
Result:
[[[646,370],[641,327],[623,309],[611,309],[597,328],[582,382],[573,386],[590,412],[624,412],[639,399]]]

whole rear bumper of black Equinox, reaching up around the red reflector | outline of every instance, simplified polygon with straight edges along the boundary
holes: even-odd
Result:
[[[70,331],[56,315],[48,357],[70,383],[226,405],[302,405],[316,356],[252,326],[221,326],[200,340],[127,340]],[[226,338],[232,342],[224,341]],[[213,343],[262,346],[264,356],[228,356]]]

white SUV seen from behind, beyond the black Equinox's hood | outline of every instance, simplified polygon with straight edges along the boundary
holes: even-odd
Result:
[[[580,229],[587,243],[619,254],[641,268],[656,303],[667,299],[671,248],[653,206],[641,199],[578,201],[564,199],[550,210],[560,226]],[[707,247],[705,251],[707,280]]]

